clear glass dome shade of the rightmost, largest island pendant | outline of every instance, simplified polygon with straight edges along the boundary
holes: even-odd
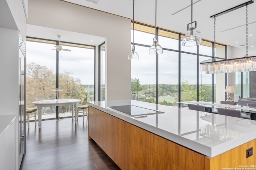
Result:
[[[196,32],[194,27],[188,29],[188,32],[183,38],[182,45],[186,47],[192,47],[196,45],[200,45],[202,43],[202,38],[200,37],[199,33]]]

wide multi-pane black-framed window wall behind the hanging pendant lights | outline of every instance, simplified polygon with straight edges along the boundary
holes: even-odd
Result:
[[[152,57],[148,50],[155,37],[154,27],[135,23],[134,29],[134,44],[140,60],[131,63],[132,99],[168,106],[187,100],[215,101],[216,76],[200,71],[201,62],[214,59],[213,42],[203,40],[199,46],[184,47],[184,35],[157,28],[163,54]],[[225,59],[226,46],[216,43],[216,54],[217,60]],[[146,100],[149,98],[152,100]]]

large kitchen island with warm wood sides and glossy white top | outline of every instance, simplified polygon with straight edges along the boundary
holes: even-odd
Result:
[[[121,169],[256,169],[254,120],[134,100],[88,105],[89,139]],[[129,105],[153,112],[113,109]]]

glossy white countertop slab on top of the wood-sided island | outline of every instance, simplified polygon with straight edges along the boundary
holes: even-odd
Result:
[[[134,105],[164,113],[136,118],[110,106]],[[128,123],[209,157],[256,139],[256,121],[135,100],[88,102]]]

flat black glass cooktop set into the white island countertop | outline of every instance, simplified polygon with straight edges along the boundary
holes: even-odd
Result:
[[[128,115],[139,116],[139,115],[152,115],[157,113],[164,113],[163,111],[157,111],[152,109],[146,109],[143,107],[133,106],[133,105],[124,105],[124,106],[111,106],[111,109],[121,111]]]

